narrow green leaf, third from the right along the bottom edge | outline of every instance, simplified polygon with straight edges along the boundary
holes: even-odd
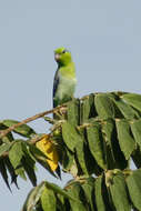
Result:
[[[95,203],[97,203],[97,209],[98,211],[105,211],[105,204],[103,200],[103,190],[102,190],[102,177],[99,177],[95,179],[95,188],[94,188],[94,193],[95,193]]]

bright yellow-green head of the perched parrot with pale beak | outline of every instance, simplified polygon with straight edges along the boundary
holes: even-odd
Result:
[[[54,59],[59,66],[66,66],[72,61],[71,53],[63,47],[54,50]]]

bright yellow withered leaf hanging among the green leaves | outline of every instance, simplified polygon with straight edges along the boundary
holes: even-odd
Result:
[[[54,143],[51,142],[50,137],[46,134],[40,141],[36,143],[37,148],[41,150],[49,159],[47,159],[48,164],[52,171],[58,168],[58,151]]]

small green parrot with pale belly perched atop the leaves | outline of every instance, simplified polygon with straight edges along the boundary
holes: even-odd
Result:
[[[54,51],[58,69],[53,81],[53,108],[70,101],[73,98],[77,79],[75,67],[71,53],[66,48]]]

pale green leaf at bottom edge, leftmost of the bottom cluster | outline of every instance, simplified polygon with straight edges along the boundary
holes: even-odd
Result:
[[[39,184],[38,187],[33,188],[27,199],[26,202],[23,204],[22,211],[33,211],[34,207],[37,205],[42,191],[44,190],[44,182],[41,182],[41,184]]]

